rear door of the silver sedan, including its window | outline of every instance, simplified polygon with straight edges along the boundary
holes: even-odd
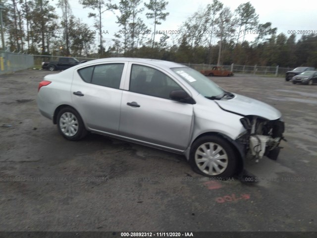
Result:
[[[109,62],[74,71],[72,102],[89,129],[118,133],[124,68],[123,62]]]

